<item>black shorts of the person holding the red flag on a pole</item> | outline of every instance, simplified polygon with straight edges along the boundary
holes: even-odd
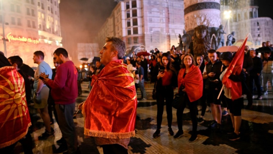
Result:
[[[238,98],[234,101],[232,101],[229,98],[226,98],[227,105],[229,107],[229,112],[233,114],[234,116],[241,116],[242,115],[242,107],[244,104],[244,98]]]

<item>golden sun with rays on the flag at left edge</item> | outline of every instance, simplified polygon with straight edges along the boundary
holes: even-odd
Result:
[[[21,119],[21,125],[23,127],[23,116],[27,116],[26,110],[27,110],[27,104],[26,104],[26,93],[24,88],[24,80],[22,77],[19,76],[19,73],[17,71],[11,70],[12,79],[14,82],[14,85],[12,82],[4,77],[3,75],[0,75],[6,82],[6,86],[0,85],[0,88],[5,91],[7,94],[0,94],[0,99],[3,98],[3,100],[0,103],[0,107],[4,106],[3,109],[0,111],[0,116],[8,111],[8,114],[6,116],[5,121],[0,126],[0,130],[3,127],[3,125],[8,121],[13,119],[13,127],[15,125],[15,121],[18,117]],[[16,75],[16,76],[15,76]],[[1,90],[0,89],[0,90]],[[19,114],[19,116],[18,116]],[[10,116],[13,116],[13,118],[10,118]]]

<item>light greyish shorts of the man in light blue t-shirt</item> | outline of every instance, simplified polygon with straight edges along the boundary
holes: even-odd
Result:
[[[34,96],[33,96],[34,108],[42,109],[47,107],[48,95],[49,95],[49,88],[47,86],[42,88],[38,96],[36,96],[34,93]]]

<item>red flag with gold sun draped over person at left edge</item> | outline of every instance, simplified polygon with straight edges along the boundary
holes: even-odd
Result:
[[[23,77],[12,66],[0,68],[0,148],[24,137],[30,125]]]

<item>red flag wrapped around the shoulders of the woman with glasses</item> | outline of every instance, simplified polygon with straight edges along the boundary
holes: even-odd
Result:
[[[178,86],[185,86],[190,102],[198,100],[203,94],[203,78],[198,67],[192,65],[188,73],[184,76],[186,68],[182,68],[178,74]],[[179,89],[178,87],[178,89]]]

